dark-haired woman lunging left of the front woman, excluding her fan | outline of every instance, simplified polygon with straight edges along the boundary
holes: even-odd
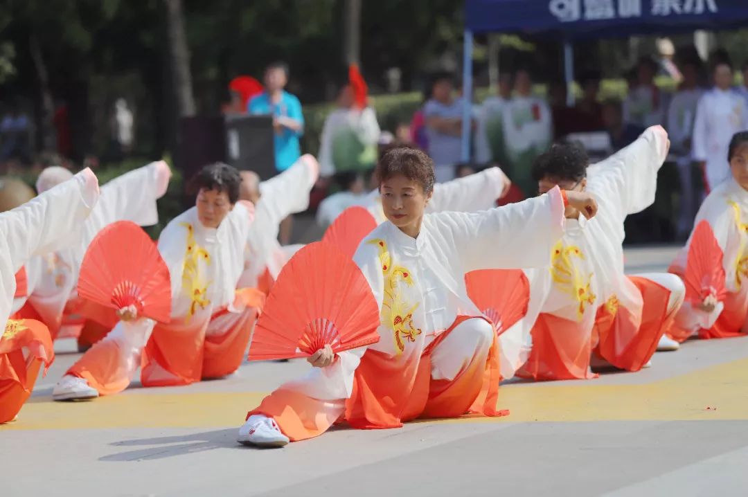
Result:
[[[171,321],[156,324],[145,313],[120,309],[111,333],[55,386],[55,400],[121,392],[138,365],[143,386],[186,385],[239,368],[261,305],[252,288],[236,289],[254,211],[251,203],[237,202],[239,182],[233,167],[204,167],[196,179],[196,206],[159,237],[171,279]]]

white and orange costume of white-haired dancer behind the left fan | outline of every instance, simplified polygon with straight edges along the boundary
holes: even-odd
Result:
[[[168,165],[159,161],[102,185],[99,202],[83,223],[75,243],[28,261],[27,296],[16,298],[13,310],[43,321],[53,339],[79,336],[84,320],[76,315],[76,285],[88,245],[102,228],[118,220],[130,220],[140,226],[158,223],[156,200],[166,193],[170,178]]]

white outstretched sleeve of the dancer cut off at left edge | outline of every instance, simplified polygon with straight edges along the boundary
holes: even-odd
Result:
[[[10,314],[16,272],[31,256],[75,241],[98,199],[99,182],[87,168],[22,206],[0,214],[0,323]]]

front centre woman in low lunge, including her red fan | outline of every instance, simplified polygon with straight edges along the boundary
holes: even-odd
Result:
[[[315,368],[251,410],[239,442],[281,446],[317,436],[341,418],[353,427],[386,428],[468,411],[500,416],[496,334],[470,302],[465,273],[548,265],[565,205],[590,216],[597,210],[589,194],[554,188],[484,212],[424,215],[434,167],[426,154],[408,148],[385,153],[377,176],[389,222],[364,238],[354,258],[368,284],[343,285],[339,274],[355,279],[344,266],[350,259],[324,243],[302,249],[286,265],[257,324],[250,359],[308,355]],[[324,249],[337,256],[319,255]],[[311,250],[316,265],[295,264]],[[346,326],[357,321],[357,333],[362,312],[373,313],[374,338],[361,343],[376,343],[345,347]],[[303,319],[289,327],[293,316]],[[328,322],[327,316],[337,318]],[[310,339],[304,327],[322,330]],[[336,338],[336,329],[345,333]]]

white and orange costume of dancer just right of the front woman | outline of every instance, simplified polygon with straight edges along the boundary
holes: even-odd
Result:
[[[598,202],[591,220],[568,219],[551,250],[551,266],[527,271],[530,304],[525,318],[503,335],[532,349],[518,376],[536,380],[594,377],[596,354],[616,368],[638,371],[681,305],[683,283],[669,274],[624,273],[623,223],[654,202],[657,171],[668,151],[665,130],[653,126],[630,146],[588,169],[587,191]],[[527,348],[516,348],[521,365]],[[504,377],[513,371],[503,371]]]

